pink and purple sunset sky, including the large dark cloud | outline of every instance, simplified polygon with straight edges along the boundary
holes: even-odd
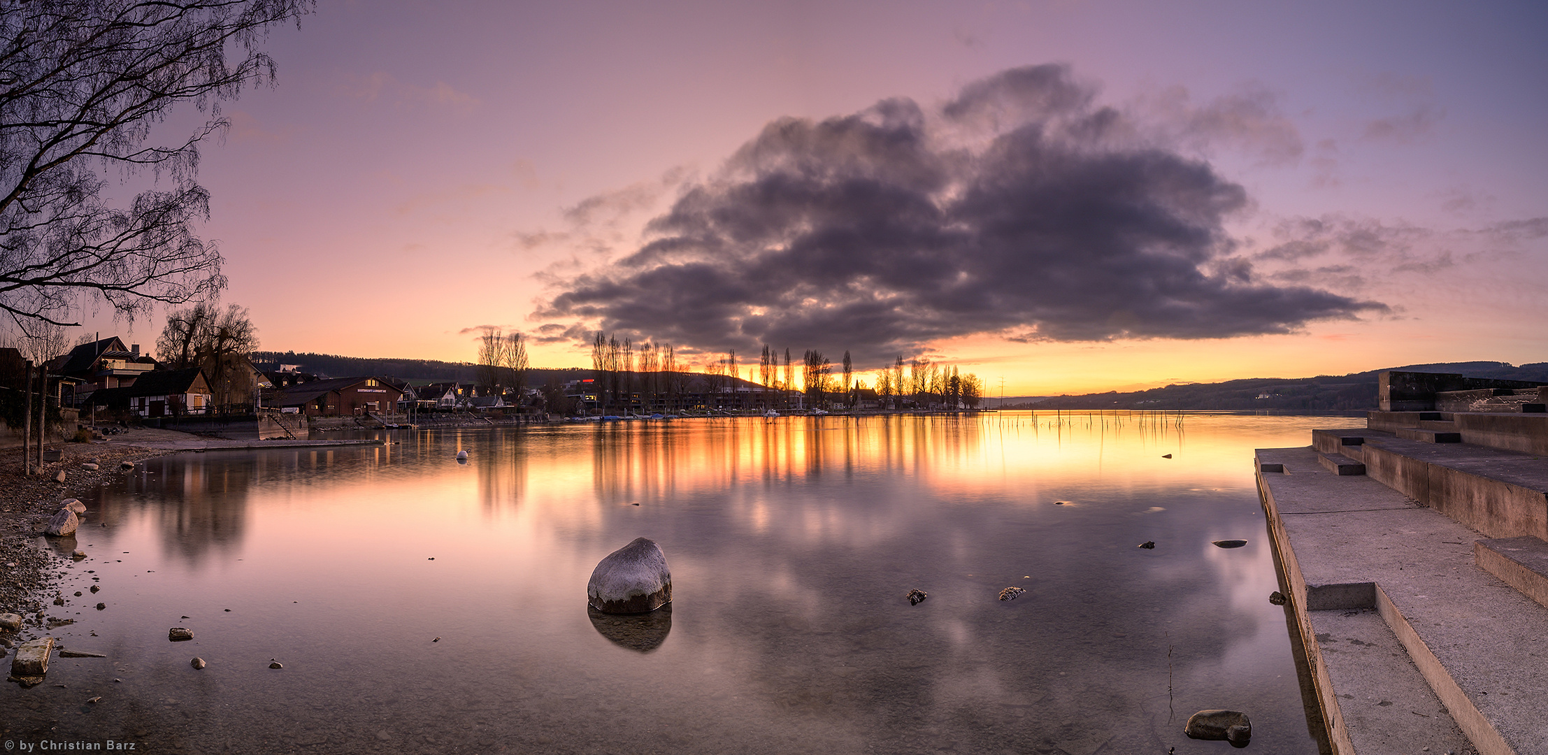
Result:
[[[1545,32],[1526,2],[322,0],[223,104],[203,232],[266,350],[474,360],[497,326],[590,367],[602,330],[1008,396],[1542,362]]]

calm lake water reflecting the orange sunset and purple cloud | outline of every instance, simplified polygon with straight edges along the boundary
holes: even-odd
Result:
[[[0,719],[156,753],[1091,755],[1228,752],[1181,729],[1231,707],[1252,752],[1316,753],[1251,458],[1359,424],[692,419],[164,456],[56,545],[91,557],[53,634],[110,658],[0,687]],[[591,568],[641,535],[670,610],[593,619]]]

